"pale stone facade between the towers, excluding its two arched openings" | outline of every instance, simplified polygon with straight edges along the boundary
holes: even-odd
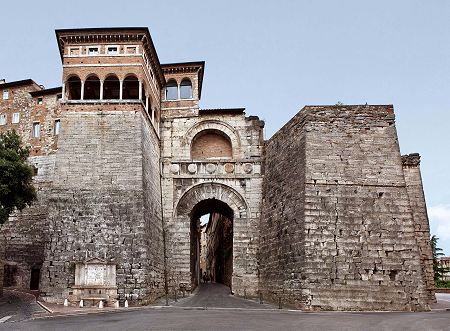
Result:
[[[170,77],[169,77],[170,78]],[[233,275],[231,288],[237,295],[256,296],[258,293],[259,241],[258,223],[262,185],[262,127],[257,119],[243,113],[203,115],[196,110],[163,112],[161,148],[163,160],[163,215],[167,229],[168,273],[170,287],[191,286],[190,236],[192,211],[202,202],[216,199],[233,210]],[[205,159],[192,146],[203,132],[220,131],[228,137],[232,157],[208,158],[217,148],[207,149]],[[220,140],[222,141],[222,140]],[[191,150],[194,148],[194,150]],[[193,156],[191,155],[193,153]],[[179,172],[171,171],[174,164]],[[249,167],[255,171],[248,171]],[[204,213],[220,212],[209,205]]]

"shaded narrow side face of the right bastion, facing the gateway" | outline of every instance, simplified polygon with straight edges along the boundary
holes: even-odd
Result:
[[[303,308],[305,284],[305,118],[298,114],[267,143],[260,222],[260,290]]]

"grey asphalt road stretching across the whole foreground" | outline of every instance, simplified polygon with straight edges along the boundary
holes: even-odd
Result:
[[[450,312],[304,313],[280,310],[143,309],[0,324],[0,330],[450,330]]]

